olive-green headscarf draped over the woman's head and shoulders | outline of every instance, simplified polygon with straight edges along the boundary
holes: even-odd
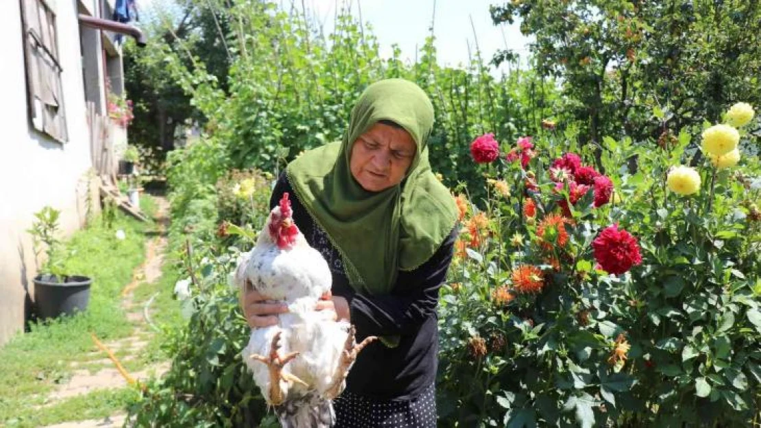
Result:
[[[400,185],[368,192],[349,170],[351,146],[384,119],[409,132],[417,153]],[[416,84],[379,81],[352,109],[342,141],[307,151],[288,165],[294,192],[330,236],[358,292],[388,293],[398,271],[411,271],[428,261],[457,221],[452,196],[428,163],[433,120],[431,101]]]

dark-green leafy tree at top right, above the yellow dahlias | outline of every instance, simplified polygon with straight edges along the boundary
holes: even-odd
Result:
[[[717,122],[738,100],[761,105],[753,2],[521,0],[491,11],[495,23],[520,20],[533,36],[537,72],[562,79],[562,110],[582,141],[645,144],[667,129]]]

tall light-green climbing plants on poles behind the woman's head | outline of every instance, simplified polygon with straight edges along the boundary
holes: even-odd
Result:
[[[451,185],[477,179],[468,150],[476,135],[488,128],[511,143],[536,133],[559,101],[551,79],[533,71],[495,79],[479,55],[465,69],[440,67],[432,37],[416,64],[403,63],[398,49],[382,60],[371,31],[349,14],[339,14],[335,32],[325,38],[303,13],[286,14],[273,2],[234,2],[215,13],[237,23],[226,45],[227,76],[207,71],[190,44],[177,52],[157,40],[150,55],[161,73],[193,95],[205,118],[201,144],[224,158],[215,163],[217,177],[252,166],[277,175],[301,151],[342,138],[354,101],[381,78],[416,81],[428,93],[436,113],[431,165]],[[213,184],[216,177],[203,178]]]

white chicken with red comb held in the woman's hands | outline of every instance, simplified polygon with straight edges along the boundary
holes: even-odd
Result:
[[[356,344],[349,322],[314,310],[320,296],[330,291],[330,268],[291,215],[285,193],[235,271],[238,287],[288,305],[277,325],[251,331],[243,359],[283,428],[333,426],[332,400],[345,388],[357,353],[375,338]]]

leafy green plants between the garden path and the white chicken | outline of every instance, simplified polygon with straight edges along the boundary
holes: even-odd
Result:
[[[174,195],[185,189],[173,185],[171,199],[183,201]],[[240,314],[237,289],[229,284],[237,256],[250,249],[253,230],[269,214],[272,184],[256,172],[232,171],[215,189],[218,196],[207,197],[203,206],[216,205],[211,215],[222,226],[205,222],[187,239],[171,236],[182,243],[172,246],[180,261],[174,270],[189,289],[184,300],[178,295],[186,322],[168,331],[164,351],[172,356],[170,371],[129,407],[141,426],[276,426],[241,360],[250,328]],[[183,214],[195,218],[193,208],[189,204]]]

